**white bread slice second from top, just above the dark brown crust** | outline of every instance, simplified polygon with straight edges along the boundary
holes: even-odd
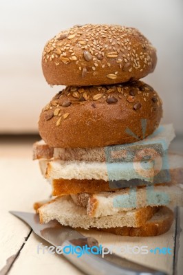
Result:
[[[161,173],[166,173],[166,170],[169,169],[170,174],[178,173],[182,176],[182,155],[169,153],[167,162],[168,165],[162,166]],[[106,164],[105,162],[74,162],[62,160],[52,160],[48,162],[47,159],[40,159],[39,163],[41,168],[47,166],[44,170],[47,179],[103,179],[104,181],[129,181],[130,179],[140,179],[153,182],[155,175],[158,173],[155,162],[153,162],[153,164],[152,162],[120,162]],[[141,171],[142,163],[144,163],[144,165],[147,164],[149,167],[149,169],[145,169],[145,177],[143,175],[144,170]]]

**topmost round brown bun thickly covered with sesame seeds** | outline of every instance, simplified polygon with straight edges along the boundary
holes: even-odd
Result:
[[[107,85],[138,80],[155,69],[155,48],[135,28],[76,25],[54,36],[43,50],[50,85]]]

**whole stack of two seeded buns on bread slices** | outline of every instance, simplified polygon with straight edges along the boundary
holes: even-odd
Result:
[[[136,29],[76,25],[47,42],[47,83],[66,85],[41,112],[34,144],[51,201],[35,203],[41,223],[129,236],[169,230],[182,203],[182,156],[161,125],[162,100],[139,80],[153,72],[156,51]]]

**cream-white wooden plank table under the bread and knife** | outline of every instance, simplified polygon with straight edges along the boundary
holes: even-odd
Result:
[[[0,140],[0,274],[82,274],[63,256],[38,254],[40,239],[28,225],[8,213],[9,210],[33,212],[34,201],[47,199],[51,188],[43,179],[37,162],[32,161],[32,142],[6,142]],[[162,236],[127,237],[82,231],[94,236],[102,245],[169,247],[173,254],[123,254],[127,259],[167,272],[183,274],[183,208],[178,208],[171,230]],[[78,260],[79,261],[79,260]]]

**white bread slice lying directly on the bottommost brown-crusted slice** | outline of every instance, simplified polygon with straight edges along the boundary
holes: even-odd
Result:
[[[70,196],[56,197],[38,209],[41,223],[56,219],[62,225],[72,228],[116,228],[122,226],[140,227],[151,219],[158,207],[139,208],[123,211],[112,216],[93,218],[87,215],[87,210],[76,206]]]

